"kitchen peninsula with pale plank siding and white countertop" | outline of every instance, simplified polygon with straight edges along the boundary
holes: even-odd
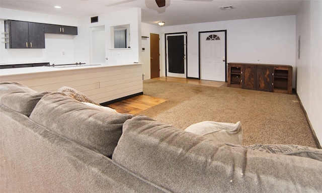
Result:
[[[142,63],[1,69],[0,81],[18,82],[36,91],[69,86],[100,104],[143,93]]]

